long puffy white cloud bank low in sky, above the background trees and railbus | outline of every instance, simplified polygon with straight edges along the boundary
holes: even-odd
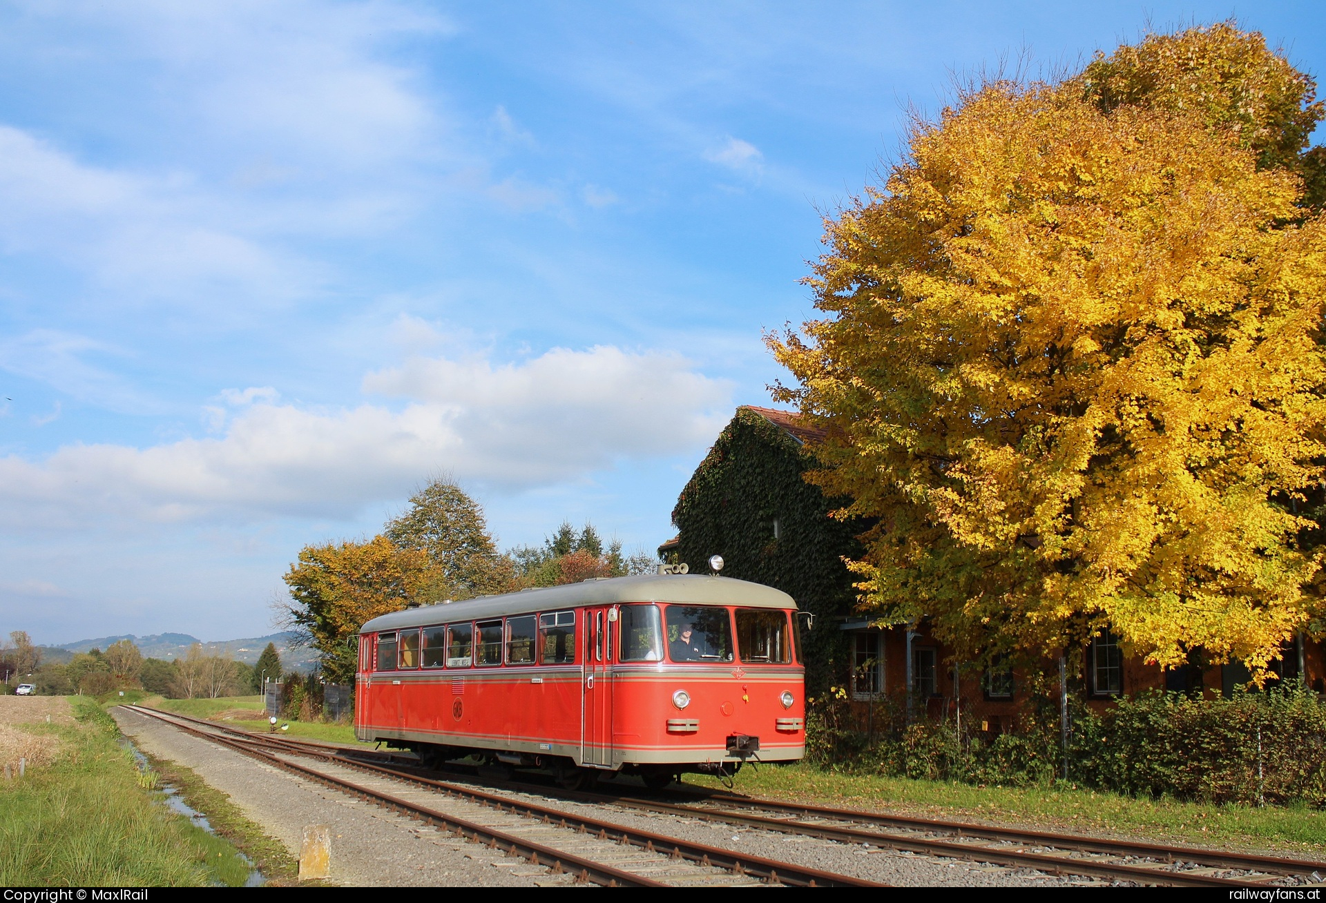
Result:
[[[66,446],[41,461],[11,455],[0,459],[0,517],[20,529],[103,513],[343,518],[444,471],[509,492],[693,450],[731,415],[729,386],[686,359],[606,346],[497,366],[412,358],[363,386],[410,400],[308,410],[252,390],[220,438]]]

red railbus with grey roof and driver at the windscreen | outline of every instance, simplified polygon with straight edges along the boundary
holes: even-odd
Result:
[[[805,754],[797,603],[727,577],[590,579],[395,611],[359,630],[355,736],[568,785]]]

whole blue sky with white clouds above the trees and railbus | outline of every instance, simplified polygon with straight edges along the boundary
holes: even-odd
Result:
[[[908,106],[1229,16],[1326,70],[1311,3],[0,1],[0,630],[267,632],[442,473],[651,549]]]

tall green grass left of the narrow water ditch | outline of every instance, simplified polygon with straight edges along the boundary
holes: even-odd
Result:
[[[25,728],[58,736],[60,758],[0,788],[0,884],[243,884],[239,851],[160,805],[95,700],[70,701],[78,724]]]

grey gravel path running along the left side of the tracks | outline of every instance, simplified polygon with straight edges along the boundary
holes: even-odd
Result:
[[[113,708],[111,715],[143,752],[194,769],[293,855],[298,855],[305,825],[328,825],[332,883],[536,887],[546,882],[546,870],[439,834],[411,818],[300,780],[155,719],[123,708]]]

